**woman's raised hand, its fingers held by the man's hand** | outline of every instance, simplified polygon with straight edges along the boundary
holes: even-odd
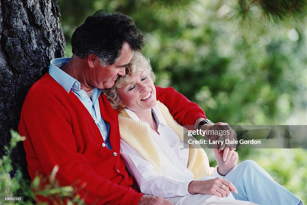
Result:
[[[233,169],[239,159],[239,155],[236,151],[230,150],[228,147],[223,150],[213,149],[216,162],[218,165],[218,173],[222,176],[225,176],[231,169]]]

